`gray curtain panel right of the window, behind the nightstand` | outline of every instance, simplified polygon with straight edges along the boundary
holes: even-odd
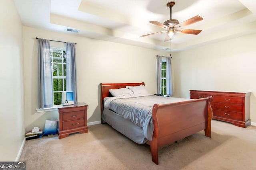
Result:
[[[73,92],[74,103],[77,103],[75,43],[67,43],[66,48],[66,91]]]

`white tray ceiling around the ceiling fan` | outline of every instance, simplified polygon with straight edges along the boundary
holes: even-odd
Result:
[[[148,21],[169,20],[166,4],[171,0],[13,1],[26,26],[162,51],[181,51],[256,32],[256,0],[173,0],[172,19],[182,22],[199,15],[204,20],[184,27],[201,29],[200,34],[176,33],[171,43],[164,42],[164,33],[140,37],[164,30]],[[67,28],[79,31],[67,32]]]

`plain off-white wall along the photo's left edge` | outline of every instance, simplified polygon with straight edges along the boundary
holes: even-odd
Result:
[[[15,161],[25,142],[22,23],[11,0],[1,4],[0,161]]]

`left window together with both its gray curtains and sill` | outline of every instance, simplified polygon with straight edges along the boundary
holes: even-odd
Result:
[[[62,104],[62,93],[66,90],[72,92],[74,104],[77,103],[76,44],[65,43],[62,47],[54,48],[49,41],[38,38],[38,111],[59,107]]]

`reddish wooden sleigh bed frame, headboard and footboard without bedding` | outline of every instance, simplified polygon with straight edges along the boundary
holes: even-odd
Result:
[[[101,83],[101,123],[104,110],[104,98],[111,96],[110,89],[139,86],[142,83]],[[211,137],[212,97],[176,102],[171,104],[154,104],[152,119],[154,131],[150,145],[152,161],[158,164],[158,149],[204,130],[206,137]],[[178,113],[178,114],[177,114]]]

